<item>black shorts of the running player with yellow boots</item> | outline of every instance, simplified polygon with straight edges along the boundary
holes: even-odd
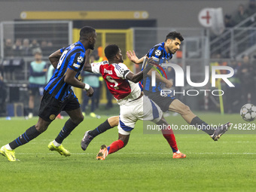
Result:
[[[59,101],[47,92],[41,99],[38,116],[43,120],[51,122],[60,113],[60,111],[72,111],[80,108],[78,98],[70,94],[64,101]]]

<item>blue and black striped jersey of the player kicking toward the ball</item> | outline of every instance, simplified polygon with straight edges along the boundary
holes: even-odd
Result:
[[[161,66],[161,64],[164,62],[169,62],[170,59],[172,59],[172,54],[171,53],[166,53],[166,50],[164,49],[164,42],[160,43],[160,44],[156,44],[154,47],[151,48],[151,50],[148,51],[147,53],[148,58],[150,57],[154,57],[157,58],[157,64],[159,66]],[[162,69],[160,69],[157,66],[154,66],[157,68],[158,72],[161,73],[161,75],[163,75],[163,71]],[[165,68],[163,68],[165,69]],[[152,87],[151,86],[151,76],[146,76],[145,78],[143,78],[142,84],[143,84],[143,89],[144,90],[148,90],[150,92],[158,92],[161,90],[161,82],[160,81],[156,81],[156,86]]]

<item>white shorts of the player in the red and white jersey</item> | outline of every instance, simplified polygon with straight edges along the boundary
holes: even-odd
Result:
[[[157,123],[163,115],[163,111],[148,96],[142,96],[133,102],[120,105],[118,133],[130,135],[137,120],[151,120]]]

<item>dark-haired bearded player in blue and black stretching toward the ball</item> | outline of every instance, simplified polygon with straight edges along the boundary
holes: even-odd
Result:
[[[172,59],[172,54],[175,54],[176,51],[179,50],[181,41],[183,40],[184,38],[179,32],[169,32],[169,34],[166,35],[166,40],[152,47],[151,50],[148,51],[146,56],[148,56],[148,58],[153,57],[158,65],[161,66],[162,63],[169,62],[169,60]],[[136,64],[142,63],[145,58],[145,56],[143,56],[139,59],[134,51],[127,51],[126,54],[128,58]],[[146,96],[148,96],[155,103],[157,103],[162,111],[175,111],[181,114],[181,117],[183,117],[184,120],[187,121],[187,123],[200,128],[201,130],[209,134],[209,136],[211,136],[214,141],[217,141],[220,136],[228,130],[230,123],[225,123],[221,126],[218,126],[216,129],[212,126],[209,126],[209,124],[197,117],[197,115],[195,115],[187,105],[184,105],[183,102],[179,101],[175,97],[170,95],[161,96],[160,91],[162,89],[162,84],[165,84],[166,88],[171,88],[172,81],[166,79],[163,75],[163,71],[160,70],[159,67],[157,67],[157,70],[161,72],[161,75],[163,76],[161,77],[161,75],[156,72],[156,86],[152,87],[151,73],[154,70],[155,69],[151,69],[151,71],[148,72],[147,76],[143,78],[143,91]],[[202,127],[207,127],[207,129],[202,129]]]

